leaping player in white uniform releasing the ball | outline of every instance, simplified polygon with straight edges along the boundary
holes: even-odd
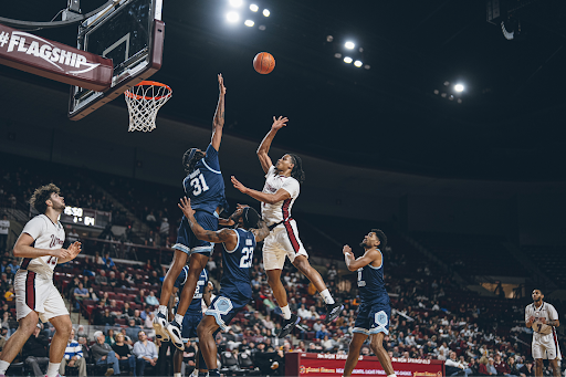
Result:
[[[301,184],[305,179],[301,158],[293,154],[286,154],[277,160],[276,165],[273,165],[268,155],[275,134],[285,127],[287,122],[286,117],[273,117],[271,130],[258,148],[258,157],[265,172],[263,191],[247,188],[235,177],[232,177],[232,184],[238,190],[261,201],[261,216],[271,230],[263,244],[263,264],[268,273],[268,283],[285,320],[279,337],[285,337],[301,321],[296,314],[291,313],[285,287],[281,283],[281,271],[285,264],[285,256],[321,292],[326,303],[326,323],[336,318],[344,307],[334,302],[321,274],[308,263],[308,254],[298,238],[296,222],[291,217],[291,208],[298,198]]]

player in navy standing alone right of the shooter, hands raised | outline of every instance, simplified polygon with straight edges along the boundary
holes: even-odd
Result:
[[[384,254],[387,237],[379,229],[373,229],[360,243],[365,253],[354,258],[352,248],[343,249],[344,260],[349,271],[358,272],[358,294],[360,299],[354,337],[349,344],[344,377],[349,377],[358,363],[361,345],[370,336],[370,347],[384,367],[387,377],[396,377],[391,359],[384,348],[384,337],[389,335],[391,306],[384,282]]]

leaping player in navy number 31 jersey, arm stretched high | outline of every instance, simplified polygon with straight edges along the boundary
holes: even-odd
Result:
[[[207,230],[218,229],[219,213],[228,208],[224,198],[224,181],[220,171],[218,150],[222,139],[222,127],[224,125],[224,94],[226,87],[222,75],[218,75],[219,98],[218,106],[212,122],[212,139],[206,151],[191,148],[182,156],[182,166],[187,172],[182,181],[186,195],[192,200],[195,217]],[[171,266],[167,272],[159,297],[159,308],[154,320],[156,337],[167,341],[170,336],[174,345],[184,349],[181,338],[182,317],[189,307],[200,272],[207,265],[212,254],[213,244],[199,240],[190,230],[187,219],[184,218],[179,227],[177,243],[172,247],[175,254]],[[167,323],[167,302],[171,295],[175,280],[179,276],[182,268],[189,259],[189,274],[187,283],[180,294],[179,305],[175,318]]]

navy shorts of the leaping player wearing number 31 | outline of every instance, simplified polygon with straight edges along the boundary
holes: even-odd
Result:
[[[195,219],[197,222],[205,228],[205,230],[218,230],[218,213],[214,212],[209,213],[206,211],[196,211]],[[187,254],[191,253],[201,253],[207,255],[212,255],[212,250],[214,249],[214,244],[208,241],[201,241],[195,237],[192,230],[189,227],[189,222],[185,216],[182,217],[181,224],[179,226],[179,232],[177,235],[177,243],[172,245],[174,249],[186,252]]]

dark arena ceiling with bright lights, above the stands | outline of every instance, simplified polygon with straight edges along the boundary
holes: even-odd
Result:
[[[87,12],[104,2],[81,6]],[[164,66],[153,80],[170,85],[174,97],[160,116],[209,127],[221,72],[234,136],[259,142],[271,117],[285,115],[291,121],[274,145],[342,164],[442,178],[566,180],[566,2],[509,0],[521,23],[513,40],[486,22],[480,0],[262,0],[255,3],[271,14],[254,15],[254,28],[242,24],[249,11],[228,24],[228,2],[164,1]],[[65,6],[20,1],[0,15],[49,21]],[[75,44],[74,27],[36,33]],[[369,70],[343,62],[347,40],[364,49]],[[275,56],[269,75],[252,69],[260,51]],[[67,91],[6,66],[0,74]],[[455,83],[465,85],[461,95]],[[21,97],[12,111],[25,114],[25,92],[2,92]]]

